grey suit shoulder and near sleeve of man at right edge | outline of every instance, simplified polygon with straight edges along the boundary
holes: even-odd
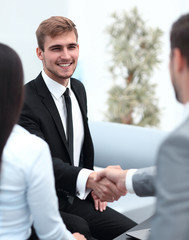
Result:
[[[157,209],[150,240],[188,239],[189,138],[187,129],[173,133],[160,148]]]

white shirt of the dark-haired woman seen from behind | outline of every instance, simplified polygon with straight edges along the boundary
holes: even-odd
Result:
[[[34,224],[41,240],[75,239],[58,211],[49,147],[16,125],[0,171],[0,239],[26,240]]]

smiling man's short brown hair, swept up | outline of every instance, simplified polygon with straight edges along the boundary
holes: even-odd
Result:
[[[39,48],[44,51],[45,37],[56,37],[65,32],[74,32],[78,41],[78,32],[76,25],[68,18],[61,16],[50,17],[39,25],[36,31],[36,37]]]

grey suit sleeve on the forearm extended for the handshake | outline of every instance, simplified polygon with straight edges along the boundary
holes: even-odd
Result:
[[[141,168],[135,172],[132,182],[136,195],[140,197],[155,195],[155,175],[155,167]]]

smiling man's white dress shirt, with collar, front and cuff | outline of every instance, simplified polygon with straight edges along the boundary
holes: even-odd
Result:
[[[42,77],[45,81],[47,88],[49,89],[52,95],[52,98],[54,99],[54,102],[56,104],[60,118],[63,123],[65,134],[67,136],[67,132],[66,132],[67,111],[66,111],[65,100],[63,97],[63,94],[66,91],[66,87],[49,78],[43,70],[42,70]],[[81,110],[77,102],[77,99],[75,97],[75,94],[71,89],[70,80],[68,82],[67,88],[69,88],[69,95],[72,102],[74,166],[78,167],[80,153],[81,153],[81,149],[84,141],[83,118],[82,118]],[[90,190],[86,189],[86,182],[91,172],[92,172],[91,170],[83,168],[78,174],[76,191],[77,191],[77,196],[80,199],[85,199],[88,193],[90,192]]]

